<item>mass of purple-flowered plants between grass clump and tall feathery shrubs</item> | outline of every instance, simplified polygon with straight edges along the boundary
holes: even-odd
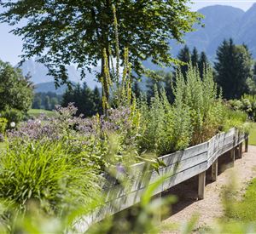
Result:
[[[134,109],[133,109],[134,110]],[[57,107],[55,116],[44,116],[22,123],[19,129],[9,132],[9,141],[30,142],[38,140],[58,142],[73,153],[88,158],[96,169],[105,170],[119,162],[135,163],[138,131],[138,114],[129,108],[109,110],[108,118],[98,115],[92,118],[74,117],[77,108],[72,104]]]

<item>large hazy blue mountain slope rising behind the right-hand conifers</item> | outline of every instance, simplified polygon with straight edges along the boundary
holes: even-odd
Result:
[[[196,47],[205,51],[211,60],[215,59],[216,50],[224,39],[232,37],[237,44],[246,43],[256,58],[256,3],[244,12],[230,6],[214,5],[198,10],[205,18],[203,26],[195,25],[195,31],[184,37],[190,49]],[[177,55],[183,45],[171,42],[172,54]]]

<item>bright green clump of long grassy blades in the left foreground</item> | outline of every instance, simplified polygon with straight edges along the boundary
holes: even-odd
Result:
[[[46,214],[61,214],[96,198],[98,176],[90,162],[61,142],[12,142],[1,152],[0,165],[0,199],[18,211],[32,201]]]

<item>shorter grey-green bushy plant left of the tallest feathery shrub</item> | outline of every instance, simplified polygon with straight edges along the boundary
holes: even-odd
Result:
[[[182,102],[171,106],[164,89],[160,94],[154,87],[154,98],[147,106],[146,98],[140,101],[142,137],[140,151],[154,151],[163,155],[189,146],[191,136],[189,111]]]

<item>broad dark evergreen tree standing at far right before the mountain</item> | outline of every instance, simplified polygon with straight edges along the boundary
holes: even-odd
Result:
[[[253,76],[252,55],[244,45],[224,40],[217,50],[217,83],[225,99],[239,99],[247,92],[247,78]]]

